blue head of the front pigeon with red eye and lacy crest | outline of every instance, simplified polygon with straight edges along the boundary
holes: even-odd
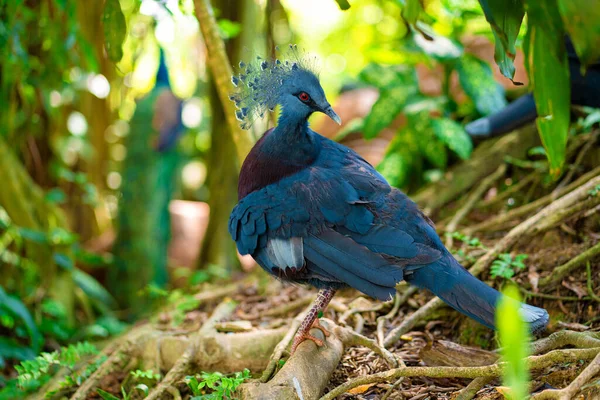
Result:
[[[322,112],[341,124],[314,72],[313,60],[299,57],[295,45],[290,45],[290,55],[292,60],[288,61],[257,57],[248,65],[240,62],[240,74],[231,78],[237,91],[229,98],[238,108],[236,117],[242,128],[250,128],[254,119],[273,111],[276,105],[288,118],[302,120]]]

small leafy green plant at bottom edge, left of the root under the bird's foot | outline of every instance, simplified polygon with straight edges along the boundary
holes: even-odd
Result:
[[[226,376],[220,372],[202,372],[200,379],[197,376],[188,376],[185,383],[192,391],[192,400],[221,400],[230,399],[238,386],[250,379],[250,371],[244,369],[233,376]],[[206,393],[207,389],[211,392]]]

